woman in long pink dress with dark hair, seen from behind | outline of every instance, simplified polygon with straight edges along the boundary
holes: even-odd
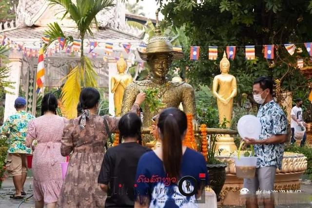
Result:
[[[56,115],[57,107],[58,101],[53,94],[44,95],[41,116],[28,124],[27,147],[34,139],[38,141],[32,162],[36,208],[44,205],[55,208],[63,183],[60,163],[65,162],[65,157],[60,154],[60,141],[65,119]]]

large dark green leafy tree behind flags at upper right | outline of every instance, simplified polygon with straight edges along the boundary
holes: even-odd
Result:
[[[309,54],[303,44],[302,53],[296,50],[290,56],[284,43],[312,41],[311,0],[190,0],[165,2],[159,0],[165,24],[184,27],[189,45],[184,47],[185,58],[174,63],[182,70],[187,67],[189,81],[194,85],[211,86],[219,74],[219,61],[225,46],[238,46],[236,57],[231,61],[230,73],[236,76],[238,99],[242,93],[251,94],[252,82],[258,76],[272,76],[281,80],[283,90],[307,89],[308,80],[296,68],[297,58],[309,62]],[[265,44],[279,44],[273,60],[263,57]],[[200,59],[189,60],[189,46],[201,46]],[[256,45],[255,60],[245,59],[245,45]],[[217,61],[208,60],[208,46],[219,46]]]

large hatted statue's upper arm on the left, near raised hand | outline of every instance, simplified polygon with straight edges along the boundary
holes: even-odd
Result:
[[[137,94],[137,87],[135,83],[131,83],[126,87],[122,98],[121,115],[124,115],[131,110],[136,101]]]

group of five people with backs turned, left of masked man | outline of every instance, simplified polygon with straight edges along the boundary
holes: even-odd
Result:
[[[142,124],[137,112],[145,96],[138,94],[131,111],[121,118],[99,116],[100,94],[94,88],[85,88],[79,97],[78,117],[71,120],[57,115],[58,102],[53,94],[44,95],[38,118],[25,112],[24,98],[17,98],[17,113],[0,128],[0,133],[8,136],[6,167],[16,187],[16,193],[10,198],[23,199],[26,194],[23,184],[27,154],[33,154],[36,208],[45,205],[47,208],[149,207],[156,203],[159,194],[167,194],[165,189],[174,189],[172,195],[179,193],[177,181],[181,177],[191,175],[197,179],[199,173],[207,173],[204,157],[182,146],[187,120],[185,113],[176,108],[166,109],[159,115],[157,128],[163,145],[154,151],[141,145]],[[106,151],[107,138],[117,130],[120,144]],[[175,148],[171,148],[173,146]],[[70,156],[70,160],[66,177],[62,179],[60,164],[66,161],[66,156]],[[141,180],[156,175],[155,182]],[[168,176],[170,180],[175,179],[172,184],[166,183]],[[208,174],[205,177],[208,183]],[[207,184],[198,180],[199,185],[197,194]],[[164,188],[163,193],[156,190],[155,194],[155,187],[159,186]],[[195,206],[195,196],[181,193],[179,196],[183,199],[180,205]],[[161,207],[171,207],[176,201],[169,197],[161,203]]]

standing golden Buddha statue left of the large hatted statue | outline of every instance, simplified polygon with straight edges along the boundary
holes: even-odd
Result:
[[[114,94],[115,115],[120,116],[122,97],[126,87],[132,82],[132,76],[125,74],[126,62],[122,54],[117,61],[118,74],[111,78],[111,92]]]

